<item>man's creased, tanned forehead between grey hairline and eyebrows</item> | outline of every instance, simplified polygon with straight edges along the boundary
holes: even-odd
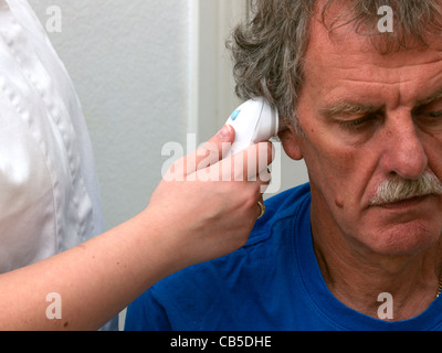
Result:
[[[442,41],[431,34],[428,45],[380,53],[350,24],[332,33],[317,17],[311,23],[303,88],[327,111],[372,111],[388,105],[415,106],[441,98]],[[361,94],[364,92],[364,94]],[[336,106],[336,104],[347,106]],[[357,104],[355,106],[355,104]],[[364,105],[364,106],[361,106]]]

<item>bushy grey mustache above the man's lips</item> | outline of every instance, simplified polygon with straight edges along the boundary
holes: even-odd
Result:
[[[370,204],[381,205],[430,194],[442,195],[442,182],[434,173],[425,171],[417,180],[396,176],[383,181]]]

